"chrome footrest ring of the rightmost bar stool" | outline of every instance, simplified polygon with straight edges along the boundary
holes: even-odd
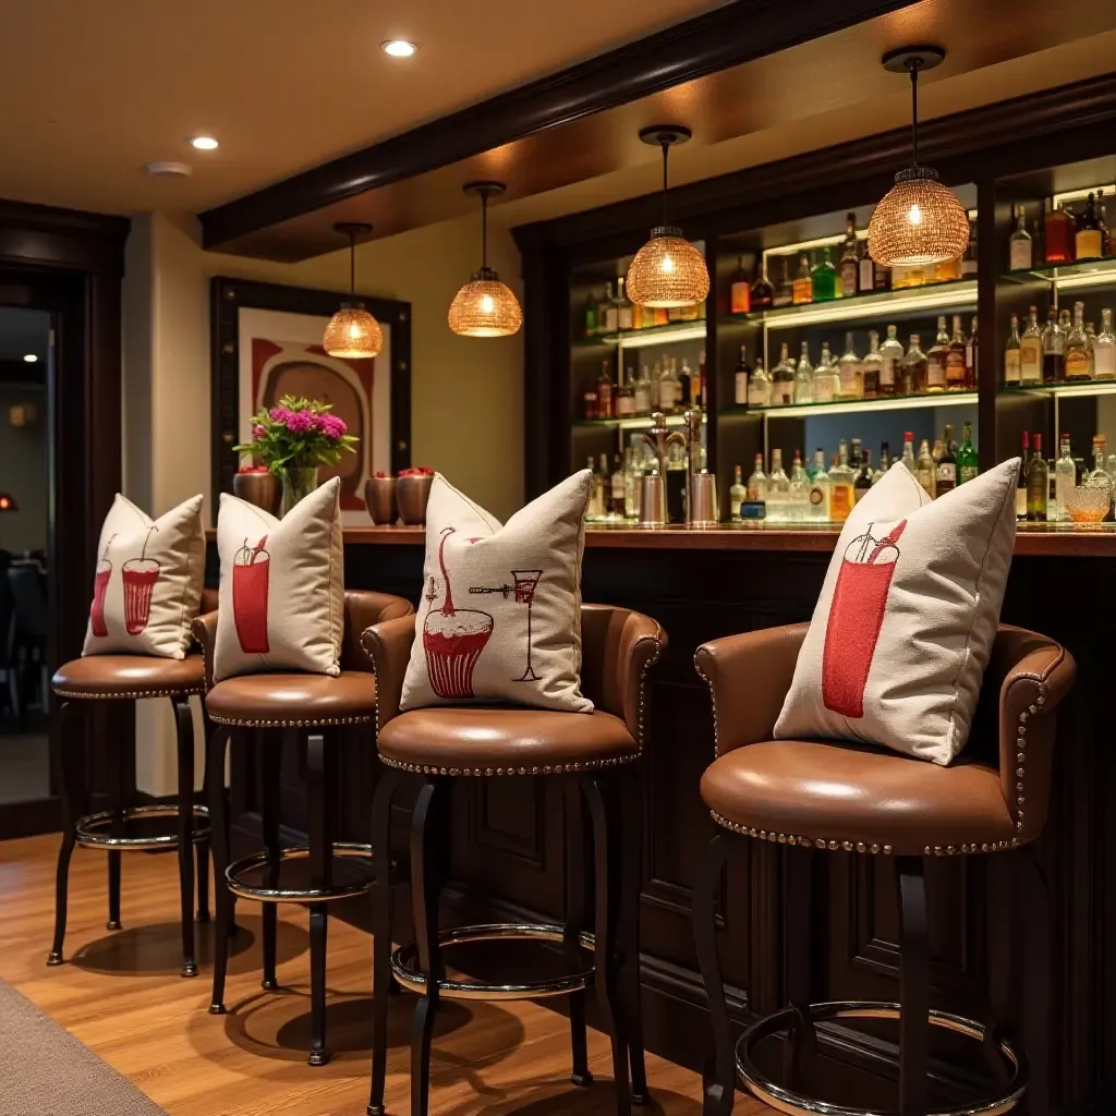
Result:
[[[814,1022],[831,1019],[898,1019],[899,1006],[882,1000],[845,1000],[829,1003],[811,1003],[807,1009]],[[785,1008],[775,1014],[761,1019],[749,1027],[737,1042],[737,1072],[748,1088],[764,1104],[777,1108],[788,1116],[898,1116],[898,1108],[852,1108],[846,1105],[835,1105],[827,1100],[818,1100],[796,1093],[786,1086],[764,1077],[752,1061],[752,1050],[762,1039],[780,1031],[793,1029],[798,1014],[793,1008]],[[954,1016],[947,1011],[930,1010],[932,1027],[944,1027],[956,1031],[966,1038],[984,1041],[983,1023]],[[1022,1099],[1027,1089],[1027,1059],[1006,1039],[998,1042],[1000,1056],[1007,1065],[1010,1076],[1003,1090],[994,1097],[985,1097],[968,1101],[955,1108],[935,1108],[927,1116],[1001,1116],[1011,1112]]]

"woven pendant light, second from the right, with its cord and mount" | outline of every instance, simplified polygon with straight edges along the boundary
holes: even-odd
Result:
[[[651,240],[628,268],[625,290],[637,306],[693,306],[709,294],[705,258],[681,229],[666,223],[666,158],[671,147],[685,143],[691,134],[679,124],[657,124],[639,133],[644,143],[663,148],[663,223],[651,230]]]

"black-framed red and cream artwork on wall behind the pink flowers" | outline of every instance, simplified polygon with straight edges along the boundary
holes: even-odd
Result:
[[[355,454],[320,479],[340,477],[341,519],[368,522],[364,482],[378,470],[411,464],[411,304],[356,296],[384,334],[376,357],[343,360],[321,347],[326,324],[343,301],[339,291],[282,287],[215,276],[212,312],[212,500],[232,491],[239,466],[232,448],[251,435],[251,416],[282,395],[331,403],[360,439]]]

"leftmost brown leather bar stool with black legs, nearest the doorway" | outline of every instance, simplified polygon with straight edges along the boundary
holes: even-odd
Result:
[[[212,608],[217,594],[206,590],[202,607]],[[58,711],[58,748],[55,782],[61,798],[62,844],[58,850],[55,891],[55,939],[48,965],[62,964],[69,865],[74,847],[108,853],[107,930],[121,929],[121,854],[135,849],[179,850],[182,918],[182,975],[196,977],[194,960],[194,865],[198,849],[198,921],[209,921],[209,810],[194,801],[194,723],[190,698],[204,691],[205,671],[200,654],[185,658],[148,655],[87,655],[60,666],[51,689],[62,702]],[[174,802],[128,805],[135,788],[125,788],[124,740],[127,722],[121,714],[136,701],[166,698],[174,710],[179,759],[179,793]],[[84,723],[83,723],[84,722]],[[105,742],[108,808],[89,812],[88,763],[85,742],[90,729]],[[114,739],[114,737],[116,739]],[[165,819],[175,818],[173,831]]]

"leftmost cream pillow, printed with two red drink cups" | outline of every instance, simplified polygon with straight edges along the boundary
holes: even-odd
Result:
[[[185,657],[205,578],[202,498],[152,519],[117,493],[97,556],[81,654]]]

